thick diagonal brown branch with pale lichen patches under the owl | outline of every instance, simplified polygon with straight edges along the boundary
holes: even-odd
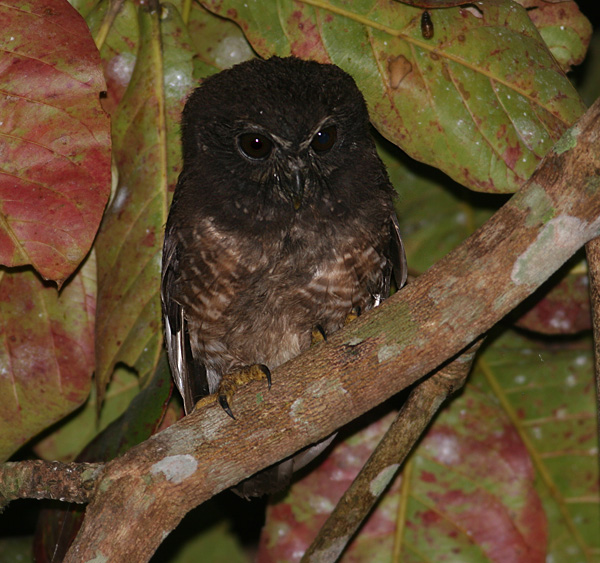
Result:
[[[600,227],[600,102],[458,249],[327,343],[109,463],[66,561],[145,561],[185,513],[430,373],[533,293]],[[143,531],[141,533],[140,531]]]

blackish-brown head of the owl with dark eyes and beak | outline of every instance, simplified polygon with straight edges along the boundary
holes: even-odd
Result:
[[[259,216],[339,199],[337,177],[364,165],[359,153],[374,154],[353,79],[295,58],[252,60],[208,78],[188,100],[182,125],[186,166],[210,175],[213,197],[227,193]]]

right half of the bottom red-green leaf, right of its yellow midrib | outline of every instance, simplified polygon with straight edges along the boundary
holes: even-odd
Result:
[[[431,561],[444,553],[473,562],[546,561],[547,518],[534,468],[492,397],[470,388],[453,401],[411,469],[407,561],[416,562],[417,553]]]

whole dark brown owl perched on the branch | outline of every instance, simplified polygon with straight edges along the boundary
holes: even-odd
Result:
[[[231,413],[228,379],[268,374],[315,330],[376,306],[392,272],[404,284],[394,190],[364,99],[334,65],[273,57],[214,75],[187,101],[182,139],[163,254],[169,361],[186,413],[215,392]]]

